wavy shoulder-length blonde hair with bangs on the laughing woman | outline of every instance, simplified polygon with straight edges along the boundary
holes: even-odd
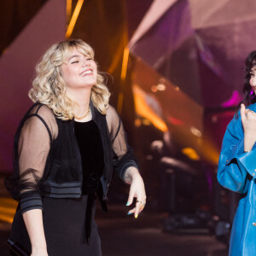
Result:
[[[67,59],[70,50],[76,48],[84,55],[94,59],[94,50],[81,39],[61,41],[52,45],[36,66],[36,78],[28,96],[32,102],[40,102],[53,110],[57,118],[73,119],[73,102],[66,95],[66,85],[61,76],[61,65]],[[97,81],[91,88],[90,99],[100,113],[106,114],[110,93],[105,85],[105,78],[97,74]]]

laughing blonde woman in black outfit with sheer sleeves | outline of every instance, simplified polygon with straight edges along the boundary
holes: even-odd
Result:
[[[54,44],[36,72],[35,104],[15,134],[15,172],[5,182],[19,200],[9,243],[32,256],[102,255],[96,195],[107,211],[114,169],[131,184],[126,205],[136,197],[128,214],[137,218],[146,203],[143,178],[90,45]]]

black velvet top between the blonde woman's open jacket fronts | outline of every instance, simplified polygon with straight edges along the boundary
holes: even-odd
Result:
[[[94,192],[102,177],[104,168],[104,154],[102,140],[96,123],[74,122],[74,133],[79,143],[83,167],[83,195]]]

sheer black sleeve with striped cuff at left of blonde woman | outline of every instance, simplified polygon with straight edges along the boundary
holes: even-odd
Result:
[[[42,209],[40,181],[57,131],[54,114],[43,105],[36,105],[20,122],[15,134],[14,174],[5,185],[20,200],[22,213]]]

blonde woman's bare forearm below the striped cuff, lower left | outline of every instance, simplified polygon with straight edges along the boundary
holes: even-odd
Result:
[[[46,253],[43,214],[41,209],[32,209],[23,213],[26,230],[32,245],[32,253]]]

